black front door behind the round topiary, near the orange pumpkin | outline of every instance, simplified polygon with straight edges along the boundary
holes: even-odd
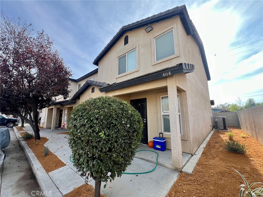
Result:
[[[131,100],[131,105],[140,113],[143,119],[143,137],[141,142],[143,144],[148,144],[148,129],[147,129],[147,105],[146,98]]]

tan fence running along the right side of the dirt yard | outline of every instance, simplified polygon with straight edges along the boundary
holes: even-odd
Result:
[[[263,106],[237,112],[243,131],[263,144]]]

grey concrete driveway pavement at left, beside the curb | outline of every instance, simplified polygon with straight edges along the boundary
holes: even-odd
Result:
[[[21,197],[32,196],[37,192],[40,193],[40,188],[36,181],[32,169],[29,165],[27,157],[20,146],[13,128],[9,128],[11,141],[6,147],[1,171],[0,190],[2,197]],[[38,195],[42,196],[42,195]]]

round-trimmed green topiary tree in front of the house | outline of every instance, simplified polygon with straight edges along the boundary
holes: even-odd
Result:
[[[143,130],[140,113],[116,97],[91,98],[73,108],[68,120],[73,165],[81,176],[101,182],[120,177],[131,164]],[[104,188],[106,184],[104,185]]]

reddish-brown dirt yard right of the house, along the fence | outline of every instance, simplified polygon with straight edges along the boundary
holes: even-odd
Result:
[[[263,145],[238,127],[229,127],[234,140],[246,144],[246,154],[229,152],[224,149],[227,131],[214,131],[203,154],[191,175],[180,176],[166,197],[239,196],[242,178],[232,168],[239,171],[248,184],[263,182]],[[241,137],[241,133],[246,136]],[[255,185],[255,188],[262,185]]]

